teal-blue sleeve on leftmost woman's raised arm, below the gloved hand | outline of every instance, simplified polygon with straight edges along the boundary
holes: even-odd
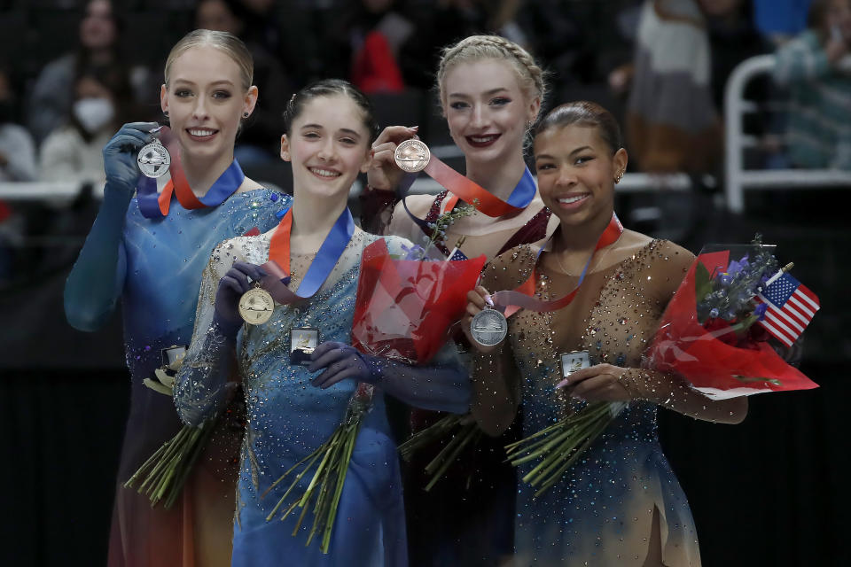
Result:
[[[65,315],[75,329],[98,330],[121,296],[127,272],[122,233],[130,199],[107,183],[98,217],[65,284]]]

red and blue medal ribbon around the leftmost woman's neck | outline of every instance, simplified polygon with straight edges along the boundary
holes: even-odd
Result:
[[[168,127],[163,127],[167,130]],[[183,164],[180,161],[180,151],[171,152],[171,165],[168,167],[171,179],[157,192],[157,180],[142,175],[137,183],[136,195],[139,211],[147,219],[159,219],[168,216],[171,197],[176,194],[177,201],[184,209],[200,209],[206,206],[219,206],[229,198],[246,179],[239,163],[234,159],[222,175],[215,180],[207,193],[198,198],[192,192],[186,175],[183,174]]]

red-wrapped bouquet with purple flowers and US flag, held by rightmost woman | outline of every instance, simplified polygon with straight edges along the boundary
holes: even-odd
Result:
[[[817,387],[769,345],[769,338],[778,335],[767,318],[783,307],[769,299],[777,298],[772,284],[792,267],[778,270],[772,249],[761,244],[759,235],[751,245],[705,247],[668,303],[644,366],[674,372],[715,399]],[[815,298],[811,318],[817,298],[806,291]],[[799,325],[798,334],[804,327],[806,323]],[[781,340],[791,346],[794,338]],[[506,447],[508,459],[513,465],[538,460],[523,478],[538,486],[537,496],[561,478],[625,407],[623,402],[589,404]]]

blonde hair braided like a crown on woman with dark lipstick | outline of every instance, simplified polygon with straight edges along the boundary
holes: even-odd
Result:
[[[458,63],[482,59],[500,59],[511,63],[527,97],[540,97],[543,105],[543,97],[547,91],[543,69],[535,63],[535,58],[527,50],[499,35],[471,35],[442,51],[441,62],[437,67],[437,87],[441,95],[441,105],[446,105],[443,83],[449,69]]]

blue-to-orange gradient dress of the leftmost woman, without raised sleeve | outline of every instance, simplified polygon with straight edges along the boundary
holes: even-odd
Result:
[[[173,198],[168,217],[154,220],[140,213],[136,198],[129,202],[119,244],[123,278],[117,285],[131,399],[113,508],[111,567],[192,565],[196,551],[201,551],[196,544],[204,540],[198,539],[206,518],[192,518],[191,504],[182,500],[170,510],[152,509],[144,495],[123,487],[182,426],[172,400],[144,386],[143,380],[162,365],[162,348],[189,344],[201,274],[215,245],[254,227],[270,229],[277,224],[277,211],[290,200],[277,191],[257,189],[235,193],[220,206],[187,210]],[[75,292],[66,289],[66,299]],[[222,463],[211,466],[215,469],[217,464]],[[199,468],[205,466],[202,460]],[[221,487],[216,490],[221,492]],[[192,490],[184,495],[190,498]]]

